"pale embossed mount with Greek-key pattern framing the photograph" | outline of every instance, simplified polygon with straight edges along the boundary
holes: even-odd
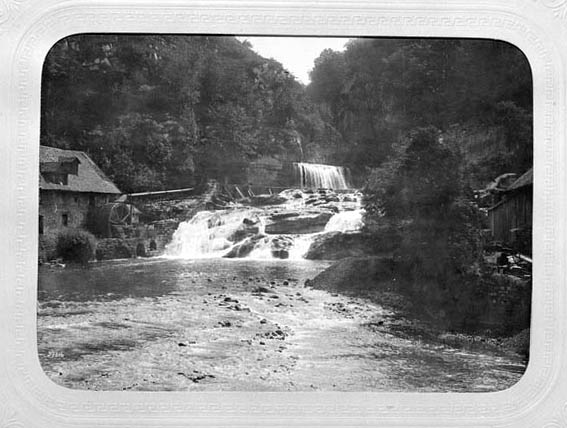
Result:
[[[40,77],[48,49],[79,32],[450,36],[509,41],[534,73],[531,360],[490,394],[72,391],[36,348]],[[567,427],[567,0],[271,2],[0,0],[0,428],[86,426]]]

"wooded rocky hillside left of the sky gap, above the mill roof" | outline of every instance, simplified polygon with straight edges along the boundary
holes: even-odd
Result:
[[[44,66],[41,143],[86,151],[125,191],[179,188],[340,136],[281,64],[233,37],[78,35]],[[228,177],[233,179],[233,177]]]

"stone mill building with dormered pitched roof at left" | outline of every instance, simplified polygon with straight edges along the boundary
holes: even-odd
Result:
[[[40,252],[49,253],[61,231],[85,228],[89,214],[120,190],[84,152],[41,146],[39,156]]]

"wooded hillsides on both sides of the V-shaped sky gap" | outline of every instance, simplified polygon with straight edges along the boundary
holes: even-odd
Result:
[[[234,37],[78,35],[44,66],[41,143],[86,151],[125,192],[192,186],[261,156],[361,182],[415,128],[459,147],[474,185],[532,160],[532,80],[490,40],[355,39],[305,87]]]

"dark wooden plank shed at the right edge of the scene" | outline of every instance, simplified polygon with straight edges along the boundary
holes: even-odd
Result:
[[[530,168],[488,209],[492,238],[531,254],[532,218],[533,169]]]

